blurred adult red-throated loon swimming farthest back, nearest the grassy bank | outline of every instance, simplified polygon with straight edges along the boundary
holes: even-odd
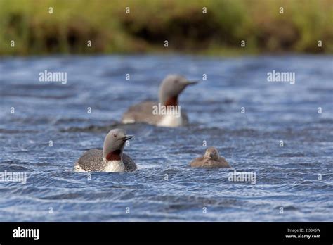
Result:
[[[181,75],[168,75],[159,86],[159,102],[143,101],[131,106],[122,117],[123,123],[145,122],[161,127],[179,127],[188,124],[188,116],[178,106],[178,96],[185,87],[197,82],[188,81]],[[157,107],[175,108],[177,113],[155,113]]]

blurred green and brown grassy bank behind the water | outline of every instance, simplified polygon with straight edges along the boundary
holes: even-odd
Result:
[[[0,54],[332,53],[332,23],[331,0],[0,0]]]

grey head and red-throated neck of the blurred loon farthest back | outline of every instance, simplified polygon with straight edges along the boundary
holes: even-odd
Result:
[[[191,84],[197,84],[197,82],[188,81],[181,75],[166,76],[159,85],[159,103],[164,106],[177,106],[178,95]]]

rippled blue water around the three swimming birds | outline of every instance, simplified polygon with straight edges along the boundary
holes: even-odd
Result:
[[[27,172],[27,183],[0,182],[0,221],[332,221],[332,66],[332,56],[2,58],[0,171]],[[67,72],[67,84],[39,82],[44,70]],[[268,82],[272,70],[296,83]],[[180,97],[190,125],[119,125],[168,73],[207,74]],[[125,152],[139,170],[72,172],[113,127],[135,135]],[[203,141],[256,184],[189,168]]]

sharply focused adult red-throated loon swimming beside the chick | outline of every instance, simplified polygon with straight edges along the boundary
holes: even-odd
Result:
[[[103,151],[86,151],[74,165],[74,172],[133,172],[136,163],[122,153],[126,140],[133,135],[126,135],[125,130],[110,130],[104,139]]]

